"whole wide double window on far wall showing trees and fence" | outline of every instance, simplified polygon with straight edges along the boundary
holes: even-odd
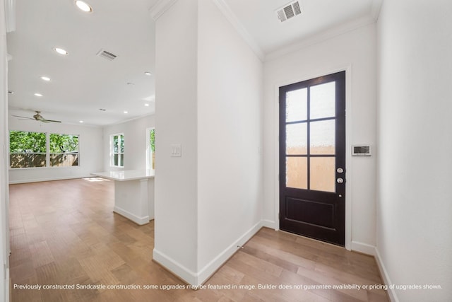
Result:
[[[78,165],[78,135],[10,131],[9,161],[10,168]]]

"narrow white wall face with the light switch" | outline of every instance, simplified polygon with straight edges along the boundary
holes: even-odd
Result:
[[[177,1],[155,22],[155,248],[153,258],[196,283],[197,1]],[[171,145],[182,156],[171,156]]]

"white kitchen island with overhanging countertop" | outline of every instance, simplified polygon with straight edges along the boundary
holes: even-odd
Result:
[[[154,170],[121,170],[91,175],[114,180],[114,209],[142,226],[154,219]]]

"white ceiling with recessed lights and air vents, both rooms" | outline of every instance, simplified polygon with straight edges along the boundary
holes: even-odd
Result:
[[[294,43],[376,18],[381,0],[299,0],[302,13],[280,23],[287,0],[214,0],[264,59]],[[102,126],[155,111],[155,26],[158,0],[16,1],[16,30],[8,33],[8,108],[32,117]],[[133,5],[131,5],[133,4]],[[53,47],[69,52],[61,55]],[[117,57],[109,61],[100,50]],[[145,71],[152,75],[145,75]],[[51,81],[43,81],[48,76]],[[36,96],[40,93],[42,96]],[[127,112],[127,113],[124,113]],[[20,122],[34,123],[33,120]]]

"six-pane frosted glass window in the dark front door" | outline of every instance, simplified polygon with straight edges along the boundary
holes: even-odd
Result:
[[[335,81],[285,98],[286,187],[335,192]]]

